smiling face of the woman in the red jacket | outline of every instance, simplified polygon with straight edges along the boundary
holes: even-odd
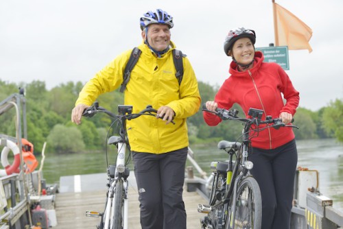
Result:
[[[236,40],[231,51],[239,64],[249,64],[255,56],[255,47],[249,38]]]

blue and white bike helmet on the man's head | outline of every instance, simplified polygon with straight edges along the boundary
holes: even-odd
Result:
[[[142,30],[150,24],[166,24],[169,29],[174,26],[173,17],[161,9],[157,9],[156,12],[146,12],[143,14],[140,21]]]

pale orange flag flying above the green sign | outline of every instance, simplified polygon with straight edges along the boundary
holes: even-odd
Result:
[[[312,36],[312,29],[294,14],[274,3],[276,17],[276,46],[288,46],[288,49],[308,49],[312,51],[309,45],[309,39]]]

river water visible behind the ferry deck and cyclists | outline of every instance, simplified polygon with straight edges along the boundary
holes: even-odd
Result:
[[[320,193],[330,197],[333,200],[333,207],[343,212],[343,145],[337,143],[335,139],[316,139],[297,141],[297,147],[298,167],[317,170],[320,178]],[[208,174],[210,162],[225,160],[227,155],[217,149],[215,144],[191,145],[191,149],[198,165]],[[110,155],[110,158],[114,157]],[[187,165],[191,165],[190,162],[187,162]],[[132,169],[132,162],[129,167]],[[45,153],[43,176],[48,184],[59,183],[61,176],[89,173],[106,173],[104,153],[64,154],[62,156]]]

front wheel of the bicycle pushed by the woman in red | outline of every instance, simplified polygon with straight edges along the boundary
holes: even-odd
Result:
[[[230,229],[261,229],[262,200],[259,184],[252,177],[241,180],[236,200],[231,204],[228,215]]]

